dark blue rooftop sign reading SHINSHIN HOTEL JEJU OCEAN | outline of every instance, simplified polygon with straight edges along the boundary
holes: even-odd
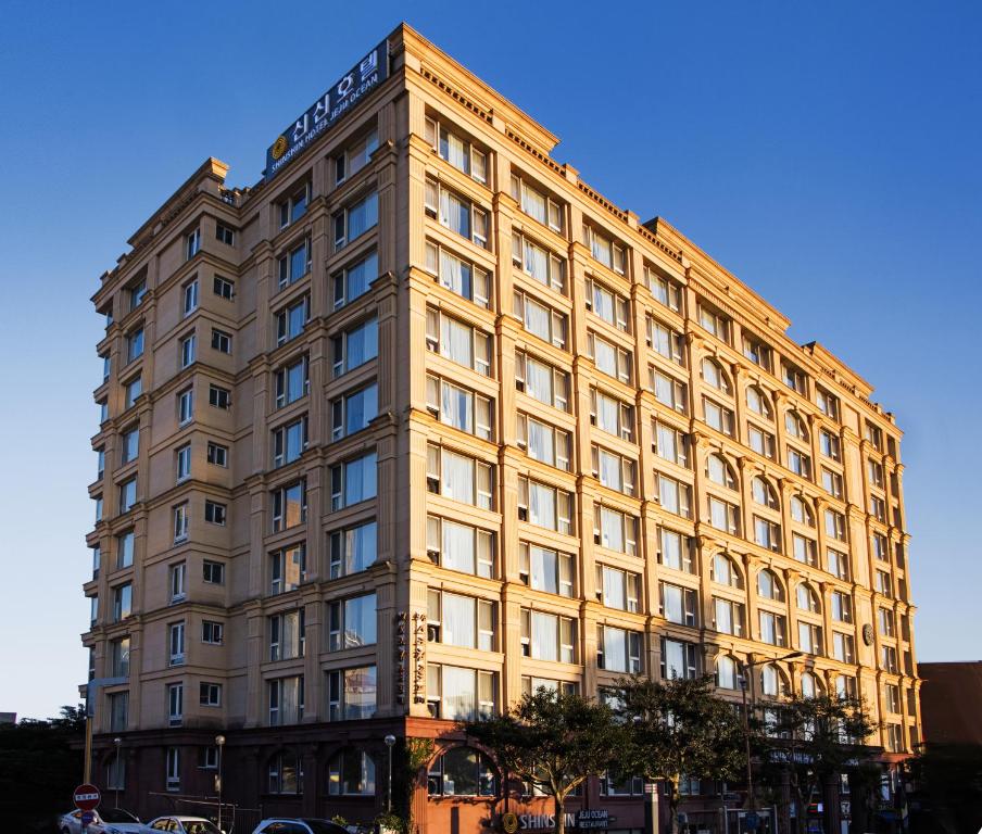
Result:
[[[266,151],[266,181],[273,179],[320,134],[389,77],[389,46],[382,41],[290,124]]]

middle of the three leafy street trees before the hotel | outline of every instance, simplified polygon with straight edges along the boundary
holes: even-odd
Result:
[[[679,830],[679,780],[734,779],[746,764],[733,705],[714,693],[712,677],[618,681],[617,713],[629,728],[621,770],[668,787],[670,831]]]

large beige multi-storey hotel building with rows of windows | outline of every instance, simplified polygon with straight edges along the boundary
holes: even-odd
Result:
[[[387,733],[631,672],[739,699],[745,660],[754,702],[918,743],[893,417],[556,141],[401,26],[102,276],[84,643],[124,804],[213,796],[221,733],[226,798],[368,820]],[[443,751],[417,822],[477,831],[493,769]],[[587,799],[629,830],[632,789]]]

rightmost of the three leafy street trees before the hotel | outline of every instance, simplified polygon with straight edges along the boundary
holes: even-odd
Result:
[[[805,832],[808,804],[826,781],[869,757],[864,742],[874,729],[860,700],[838,695],[794,695],[765,713],[756,740],[764,779],[776,787],[788,773],[798,832]]]

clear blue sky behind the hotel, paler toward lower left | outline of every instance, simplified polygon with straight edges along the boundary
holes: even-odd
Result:
[[[254,184],[279,130],[402,18],[561,137],[559,162],[876,386],[906,432],[919,659],[982,657],[982,4],[455,5],[5,9],[0,710],[51,715],[86,678],[99,276],[206,156]]]

